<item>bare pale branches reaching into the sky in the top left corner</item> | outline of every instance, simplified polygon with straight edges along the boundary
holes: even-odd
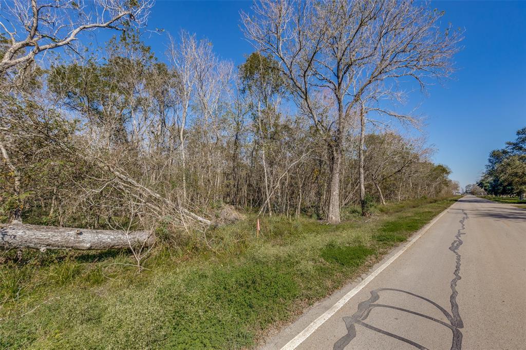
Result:
[[[153,0],[3,0],[0,28],[7,36],[0,74],[23,72],[39,53],[71,47],[81,32],[97,28],[124,30],[143,25]]]

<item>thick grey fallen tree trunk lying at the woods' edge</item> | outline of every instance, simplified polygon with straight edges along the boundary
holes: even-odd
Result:
[[[100,250],[151,245],[147,231],[88,230],[14,223],[0,227],[0,246],[4,248]]]

